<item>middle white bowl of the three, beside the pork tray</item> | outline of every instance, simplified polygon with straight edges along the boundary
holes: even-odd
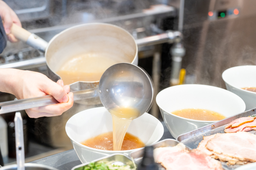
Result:
[[[216,121],[198,121],[171,114],[171,112],[200,108],[218,112],[226,117],[244,112],[244,101],[236,94],[209,85],[176,85],[156,96],[164,122],[174,138]]]

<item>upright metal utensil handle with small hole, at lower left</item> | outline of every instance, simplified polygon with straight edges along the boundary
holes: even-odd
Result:
[[[24,137],[23,137],[23,121],[20,112],[15,113],[15,144],[16,144],[16,159],[17,170],[25,170],[25,152],[24,152]]]

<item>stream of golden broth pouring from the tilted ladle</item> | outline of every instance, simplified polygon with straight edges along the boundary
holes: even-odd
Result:
[[[119,107],[109,110],[113,121],[113,148],[121,151],[125,133],[132,120],[139,117],[140,112],[135,108]]]

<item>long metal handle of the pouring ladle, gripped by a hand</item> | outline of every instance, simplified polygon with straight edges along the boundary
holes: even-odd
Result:
[[[81,100],[81,99],[88,99],[92,97],[98,97],[99,96],[98,91],[99,91],[98,87],[87,89],[87,90],[75,91],[73,92],[74,101]],[[33,108],[33,107],[52,105],[56,103],[59,103],[59,102],[55,100],[51,95],[29,98],[29,99],[14,100],[14,101],[6,101],[6,102],[0,103],[0,114],[16,112],[20,110]]]

